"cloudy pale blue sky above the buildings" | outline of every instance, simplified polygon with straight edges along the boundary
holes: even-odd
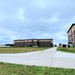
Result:
[[[0,44],[17,39],[67,43],[75,23],[75,0],[0,0]]]

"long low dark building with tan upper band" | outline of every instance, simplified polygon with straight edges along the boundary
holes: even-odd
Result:
[[[48,47],[53,46],[53,39],[22,39],[14,40],[14,46],[16,47]]]

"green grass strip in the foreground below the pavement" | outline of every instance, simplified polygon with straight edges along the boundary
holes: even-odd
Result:
[[[75,69],[0,63],[0,75],[75,75]]]

